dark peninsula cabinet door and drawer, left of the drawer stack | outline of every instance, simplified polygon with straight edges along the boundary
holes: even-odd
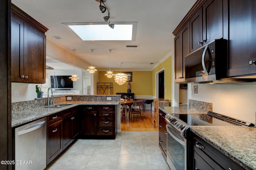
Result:
[[[97,108],[96,106],[81,106],[80,136],[97,135]]]

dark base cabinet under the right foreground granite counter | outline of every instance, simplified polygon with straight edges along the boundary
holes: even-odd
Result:
[[[194,133],[190,144],[193,150],[190,160],[194,170],[245,170]]]

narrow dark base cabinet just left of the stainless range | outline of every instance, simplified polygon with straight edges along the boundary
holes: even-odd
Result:
[[[167,131],[166,131],[166,121],[165,121],[165,115],[162,110],[159,110],[159,147],[162,151],[162,154],[164,155],[164,158],[166,159],[167,154]]]

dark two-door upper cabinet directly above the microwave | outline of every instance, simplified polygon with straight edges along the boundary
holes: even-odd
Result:
[[[206,0],[190,18],[190,53],[223,37],[222,0]]]

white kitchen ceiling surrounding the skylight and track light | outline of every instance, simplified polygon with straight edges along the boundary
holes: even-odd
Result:
[[[12,0],[12,3],[39,21],[49,30],[46,38],[98,70],[152,70],[165,57],[174,55],[172,32],[196,0],[107,0],[110,23],[138,22],[135,41],[82,41],[62,23],[104,22],[96,0]],[[59,36],[61,39],[54,39]],[[139,45],[137,48],[126,45]],[[47,49],[46,49],[47,51]],[[57,64],[58,63],[58,64]],[[154,64],[150,64],[154,63]],[[63,63],[64,64],[64,63]],[[46,65],[55,69],[73,69],[46,58]],[[87,66],[86,66],[87,67]]]

